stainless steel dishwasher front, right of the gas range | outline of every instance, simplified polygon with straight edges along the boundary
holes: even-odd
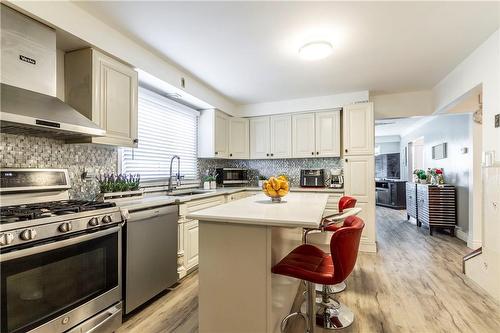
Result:
[[[175,284],[178,206],[129,210],[125,228],[125,313]]]

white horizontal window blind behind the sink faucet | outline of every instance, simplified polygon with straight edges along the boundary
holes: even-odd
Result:
[[[139,88],[138,148],[122,150],[123,173],[138,173],[141,180],[169,176],[170,159],[181,158],[180,174],[197,178],[199,112],[155,92]],[[177,173],[177,160],[173,172]]]

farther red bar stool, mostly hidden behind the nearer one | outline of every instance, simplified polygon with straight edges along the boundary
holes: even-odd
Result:
[[[314,246],[319,247],[324,252],[329,252],[330,251],[328,248],[329,242],[327,242],[325,240],[325,238],[327,238],[328,236],[325,234],[321,234],[319,232],[324,232],[324,233],[329,234],[331,232],[335,232],[338,229],[342,228],[343,225],[340,221],[338,221],[338,220],[332,221],[329,219],[334,218],[338,215],[344,214],[344,211],[347,209],[354,208],[356,206],[356,202],[357,202],[356,198],[353,198],[353,197],[350,197],[347,195],[340,198],[339,204],[338,204],[338,213],[333,214],[333,215],[329,215],[329,216],[325,216],[323,218],[323,221],[321,222],[322,226],[319,229],[308,229],[305,232],[305,236],[304,236],[305,243],[313,244]],[[357,214],[357,213],[355,213],[355,214]],[[345,220],[344,220],[344,224],[345,224]],[[318,292],[327,293],[328,295],[330,295],[330,294],[339,293],[339,292],[344,291],[345,288],[347,288],[347,285],[345,284],[345,282],[341,282],[341,283],[334,285],[334,286],[323,286],[323,287],[319,287],[319,288],[320,289],[317,289]]]

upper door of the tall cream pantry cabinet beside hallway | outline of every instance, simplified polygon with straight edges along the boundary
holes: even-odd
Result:
[[[343,120],[344,155],[372,155],[374,150],[373,103],[345,106]]]

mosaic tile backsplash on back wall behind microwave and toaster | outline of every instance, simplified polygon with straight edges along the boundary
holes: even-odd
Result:
[[[222,160],[198,159],[198,173],[200,178],[206,170],[213,171],[217,167],[247,168],[252,185],[257,185],[257,176],[266,178],[272,175],[285,173],[290,177],[292,186],[299,186],[300,169],[342,168],[342,159],[332,158],[292,158],[292,159],[265,159],[265,160]]]

